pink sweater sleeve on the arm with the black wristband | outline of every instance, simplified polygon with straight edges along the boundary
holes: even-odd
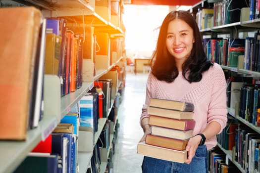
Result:
[[[215,121],[220,124],[221,130],[225,128],[227,123],[226,108],[226,81],[224,72],[218,64],[214,64],[214,73],[212,73],[212,92],[208,106],[208,123]]]

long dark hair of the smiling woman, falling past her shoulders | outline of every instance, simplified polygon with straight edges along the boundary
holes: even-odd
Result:
[[[190,83],[199,82],[202,79],[202,73],[207,71],[213,63],[207,59],[196,20],[187,11],[171,11],[164,18],[160,27],[156,49],[152,55],[152,73],[158,80],[168,83],[173,82],[179,74],[175,59],[166,47],[168,25],[176,18],[185,21],[193,29],[195,40],[190,56],[182,65],[182,75]]]

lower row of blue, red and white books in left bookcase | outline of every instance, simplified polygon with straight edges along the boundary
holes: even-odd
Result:
[[[115,102],[120,102],[119,96],[116,96]],[[119,103],[111,106],[104,126],[99,126],[99,94],[89,91],[60,120],[55,130],[28,154],[15,173],[35,173],[37,170],[39,172],[47,170],[48,173],[76,173],[79,167],[78,153],[82,151],[93,153],[90,160],[91,173],[98,173],[101,162],[100,153],[107,156],[112,143],[110,140],[113,140],[110,134],[117,129],[115,109],[118,109],[118,106]],[[95,141],[97,131],[101,132],[98,140]],[[103,162],[106,163],[107,159],[104,156]],[[28,167],[35,162],[35,167]],[[99,163],[98,166],[97,163]]]

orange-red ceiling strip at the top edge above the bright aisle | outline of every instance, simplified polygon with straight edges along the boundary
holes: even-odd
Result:
[[[201,0],[124,0],[135,5],[195,5]]]

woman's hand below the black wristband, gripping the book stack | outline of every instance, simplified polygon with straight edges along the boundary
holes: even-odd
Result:
[[[188,158],[185,161],[186,164],[190,164],[192,158],[195,156],[196,150],[201,142],[202,137],[200,135],[191,137],[187,143],[186,150],[188,151]]]

